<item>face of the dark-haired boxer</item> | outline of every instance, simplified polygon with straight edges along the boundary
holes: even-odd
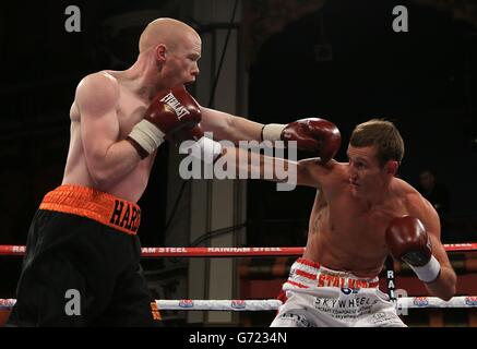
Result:
[[[355,196],[366,197],[382,189],[386,179],[386,170],[382,168],[375,156],[373,146],[348,146],[349,185]]]

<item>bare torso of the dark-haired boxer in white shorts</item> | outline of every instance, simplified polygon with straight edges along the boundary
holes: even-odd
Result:
[[[406,196],[413,189],[393,179],[393,195],[381,205],[369,207],[351,195],[345,171],[337,176],[343,177],[343,184],[329,204],[322,192],[317,193],[303,256],[331,269],[377,276],[387,255],[384,241],[387,224],[408,213]]]

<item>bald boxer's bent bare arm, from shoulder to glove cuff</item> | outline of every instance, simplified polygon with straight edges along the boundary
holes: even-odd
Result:
[[[86,165],[100,190],[130,173],[141,160],[131,143],[119,140],[118,100],[118,83],[104,73],[86,76],[76,88]]]

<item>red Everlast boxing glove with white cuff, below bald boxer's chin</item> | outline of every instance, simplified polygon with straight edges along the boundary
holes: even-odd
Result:
[[[184,86],[159,92],[147,108],[144,119],[132,129],[128,141],[142,158],[152,154],[164,139],[175,143],[198,141],[203,136],[198,125],[201,109]]]

